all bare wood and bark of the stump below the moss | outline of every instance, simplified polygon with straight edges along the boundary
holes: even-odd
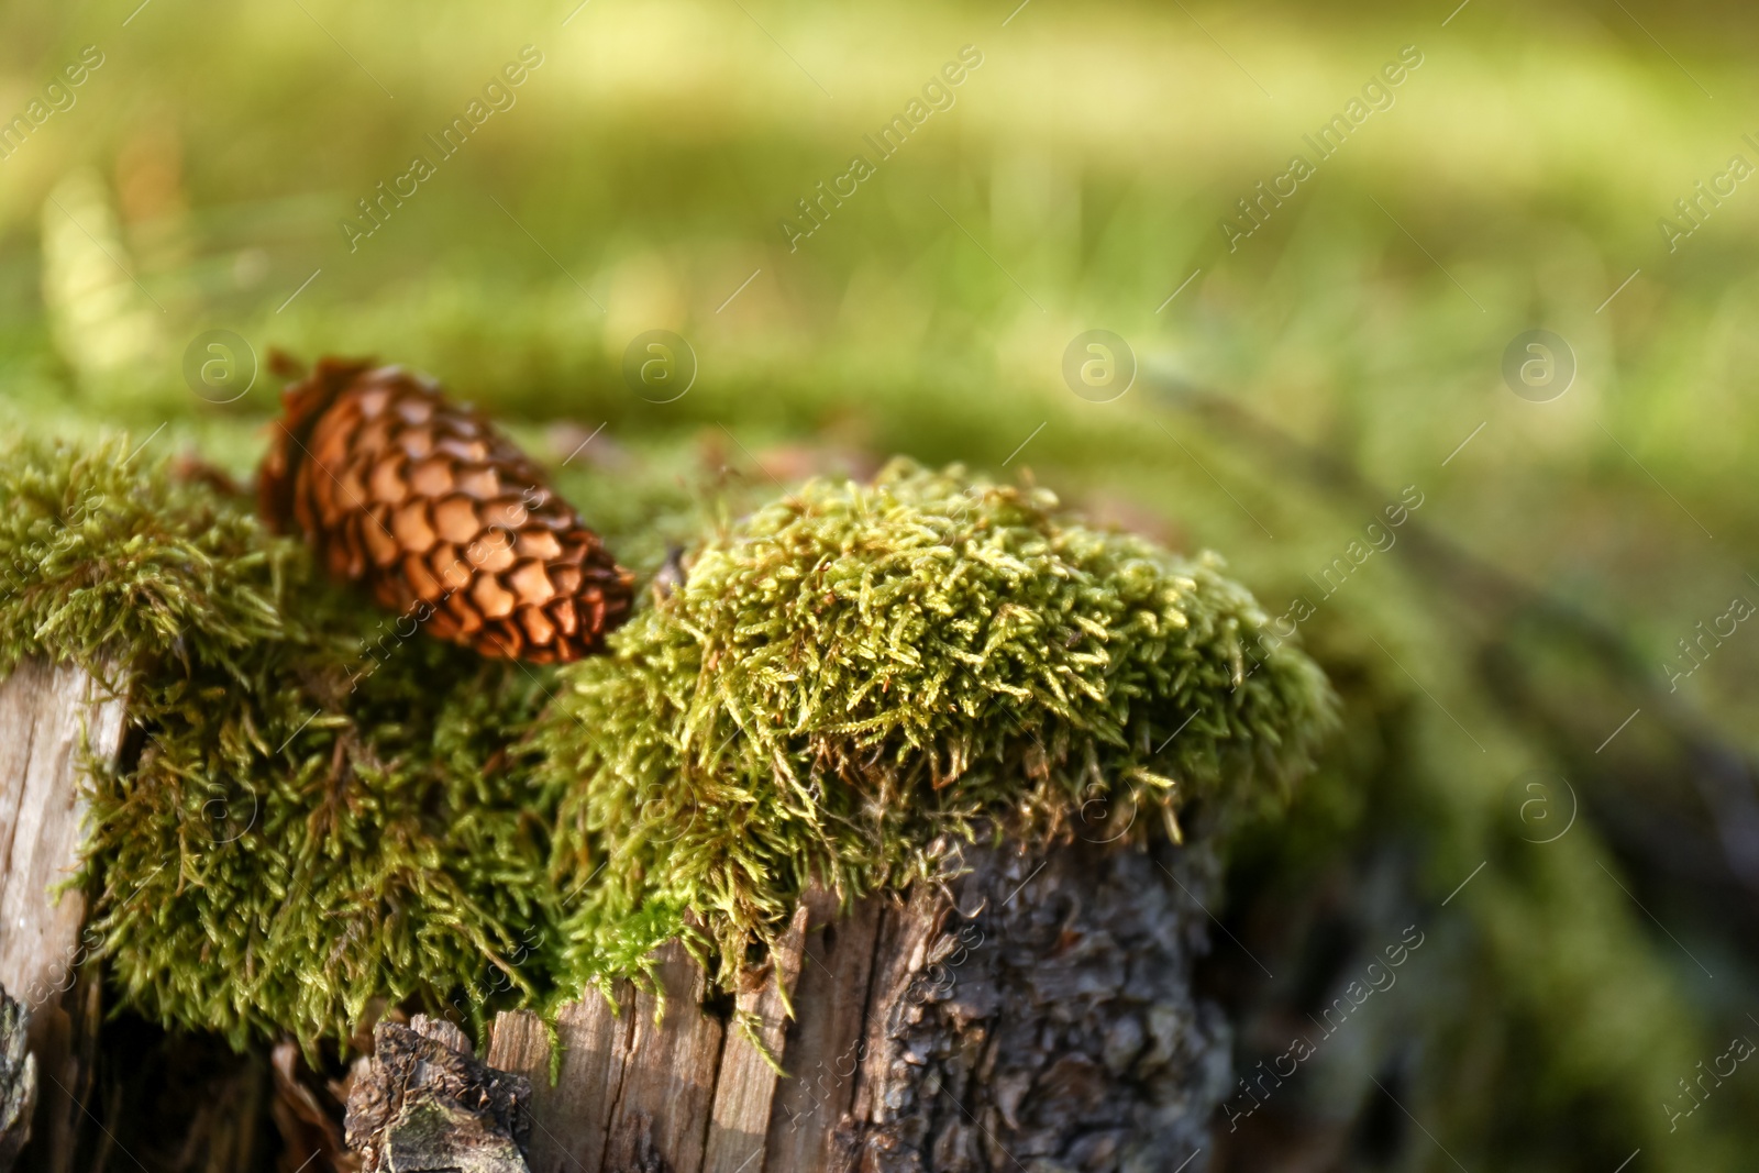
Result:
[[[84,746],[114,760],[121,732],[121,702],[74,668],[26,661],[0,684],[0,983],[30,1009],[37,1067],[25,1169],[77,1168],[99,988],[79,974],[83,900],[51,888],[77,858]],[[383,1078],[355,1082],[350,1140],[385,1169],[517,1168],[508,1138],[533,1173],[1201,1169],[1230,1082],[1226,1022],[1191,988],[1207,841],[967,848],[962,869],[846,913],[809,892],[735,999],[755,1038],[677,943],[660,990],[561,1011],[556,1082],[533,1013],[500,1015],[482,1062],[443,1024],[405,1031]],[[375,1087],[392,1111],[371,1115]]]

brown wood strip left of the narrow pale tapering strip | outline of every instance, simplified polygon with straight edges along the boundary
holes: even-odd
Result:
[[[630,1066],[610,1115],[605,1173],[651,1164],[649,1145],[670,1173],[702,1171],[723,1027],[700,1009],[705,974],[684,946],[668,941],[656,958],[660,992],[639,992],[630,1011]]]

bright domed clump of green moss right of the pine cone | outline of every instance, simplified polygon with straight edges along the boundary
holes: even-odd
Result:
[[[1045,491],[908,463],[807,484],[563,672],[538,733],[556,881],[579,888],[563,985],[679,932],[726,980],[814,876],[855,897],[985,832],[1177,835],[1187,802],[1272,791],[1332,702],[1265,624],[1219,559],[1084,528]]]

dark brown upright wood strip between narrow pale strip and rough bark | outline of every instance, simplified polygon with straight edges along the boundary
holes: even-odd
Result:
[[[790,1078],[776,1089],[763,1173],[828,1168],[832,1136],[855,1097],[867,985],[887,900],[862,900],[839,920],[836,895],[814,888],[806,906],[811,930],[783,1048]]]

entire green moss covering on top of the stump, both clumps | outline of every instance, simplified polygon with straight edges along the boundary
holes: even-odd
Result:
[[[540,672],[399,637],[241,498],[127,455],[0,454],[0,667],[127,693],[91,923],[125,1004],[237,1046],[347,1039],[373,999],[480,1029],[679,934],[730,981],[813,876],[855,897],[980,834],[1177,834],[1275,793],[1330,719],[1215,559],[1041,491],[813,482],[723,526],[614,656]]]

